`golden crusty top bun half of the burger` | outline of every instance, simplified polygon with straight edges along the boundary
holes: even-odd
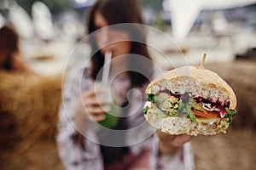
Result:
[[[213,71],[196,66],[183,66],[164,72],[148,85],[146,94],[158,94],[168,89],[172,93],[191,93],[195,97],[212,99],[213,102],[230,102],[231,110],[236,109],[236,94],[229,84]]]

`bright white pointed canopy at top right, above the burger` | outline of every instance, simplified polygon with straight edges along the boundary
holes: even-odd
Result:
[[[236,8],[256,3],[256,0],[166,0],[171,11],[173,38],[182,42],[189,34],[202,9]]]

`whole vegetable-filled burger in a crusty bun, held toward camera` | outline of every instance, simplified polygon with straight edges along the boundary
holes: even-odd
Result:
[[[227,82],[203,67],[164,72],[146,88],[144,116],[170,134],[226,133],[236,115],[236,94]]]

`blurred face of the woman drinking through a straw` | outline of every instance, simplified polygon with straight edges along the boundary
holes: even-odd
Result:
[[[96,43],[102,55],[104,55],[106,51],[111,51],[113,57],[130,53],[131,42],[124,41],[130,37],[126,31],[108,28],[108,21],[100,12],[96,12],[94,24],[98,29],[106,27],[101,31],[96,31]]]

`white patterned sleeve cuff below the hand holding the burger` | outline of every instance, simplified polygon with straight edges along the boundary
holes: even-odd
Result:
[[[193,170],[195,169],[194,157],[191,151],[190,142],[183,144],[182,150],[179,150],[174,156],[159,155],[159,138],[154,134],[154,142],[151,152],[151,169],[154,170]]]

